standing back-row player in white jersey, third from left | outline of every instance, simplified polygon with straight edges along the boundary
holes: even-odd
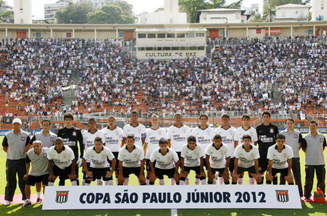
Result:
[[[123,128],[123,141],[122,146],[126,144],[126,137],[128,134],[133,134],[135,138],[135,145],[143,149],[145,142],[146,132],[145,126],[138,123],[139,113],[137,111],[131,112],[130,124],[127,124]]]

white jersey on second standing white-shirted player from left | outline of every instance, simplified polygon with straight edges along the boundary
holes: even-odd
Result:
[[[101,131],[104,133],[105,147],[110,149],[112,152],[119,152],[123,140],[123,129],[115,127],[114,130],[111,130],[109,127],[105,127],[102,128]]]

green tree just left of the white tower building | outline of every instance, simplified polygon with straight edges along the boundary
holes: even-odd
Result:
[[[106,4],[87,15],[88,24],[133,24],[133,6],[126,1]]]

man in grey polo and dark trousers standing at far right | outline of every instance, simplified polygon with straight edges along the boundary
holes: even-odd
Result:
[[[326,144],[326,138],[317,131],[318,124],[311,120],[309,122],[310,133],[306,134],[301,143],[302,150],[305,152],[305,184],[304,196],[309,201],[313,187],[314,171],[317,177],[317,188],[325,192],[325,159],[323,151]]]

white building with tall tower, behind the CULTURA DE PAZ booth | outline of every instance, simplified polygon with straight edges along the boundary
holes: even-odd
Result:
[[[164,0],[164,7],[154,13],[139,15],[140,24],[186,24],[186,13],[178,12],[178,0]]]

